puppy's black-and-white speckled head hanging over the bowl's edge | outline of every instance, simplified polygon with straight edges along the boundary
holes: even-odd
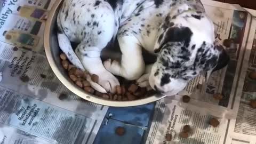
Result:
[[[172,23],[165,30],[163,27],[159,30],[154,48],[158,57],[149,76],[150,86],[154,90],[166,95],[177,94],[198,74],[212,73],[228,64],[225,49],[214,43],[213,29],[202,29],[205,30],[202,33],[188,26]]]

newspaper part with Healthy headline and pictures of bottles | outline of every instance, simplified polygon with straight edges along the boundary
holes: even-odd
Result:
[[[0,41],[44,54],[47,10],[54,1],[6,0],[0,15]]]

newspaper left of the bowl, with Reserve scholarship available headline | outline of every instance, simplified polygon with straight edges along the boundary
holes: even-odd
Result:
[[[108,107],[53,74],[43,32],[54,1],[5,0],[0,13],[0,143],[93,143]]]

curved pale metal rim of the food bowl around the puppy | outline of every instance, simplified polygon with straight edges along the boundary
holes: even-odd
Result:
[[[102,99],[96,95],[90,94],[82,90],[80,87],[76,86],[68,77],[68,73],[63,69],[60,61],[60,47],[58,44],[57,34],[56,34],[56,21],[59,9],[61,7],[62,0],[56,0],[52,6],[51,11],[47,17],[45,30],[44,30],[44,49],[46,53],[47,60],[50,64],[50,67],[53,70],[53,73],[57,76],[60,82],[65,85],[71,92],[75,93],[79,97],[98,103],[100,105],[112,106],[112,107],[130,107],[130,106],[139,106],[146,103],[157,101],[161,98],[164,98],[165,95],[155,94],[151,97],[144,99],[133,100],[133,101],[112,101]]]

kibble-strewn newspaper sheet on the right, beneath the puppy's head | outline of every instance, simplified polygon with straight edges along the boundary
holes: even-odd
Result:
[[[234,39],[225,47],[231,60],[208,82],[199,76],[179,95],[158,101],[146,143],[256,143],[256,110],[249,105],[256,99],[256,81],[248,76],[256,70],[256,11],[210,0],[202,3],[214,22],[219,44]],[[215,93],[223,99],[215,100]],[[189,103],[182,102],[184,94],[190,96]],[[212,117],[220,122],[216,128],[209,124]],[[180,133],[187,124],[192,132],[185,139]],[[166,134],[172,135],[171,141]]]

